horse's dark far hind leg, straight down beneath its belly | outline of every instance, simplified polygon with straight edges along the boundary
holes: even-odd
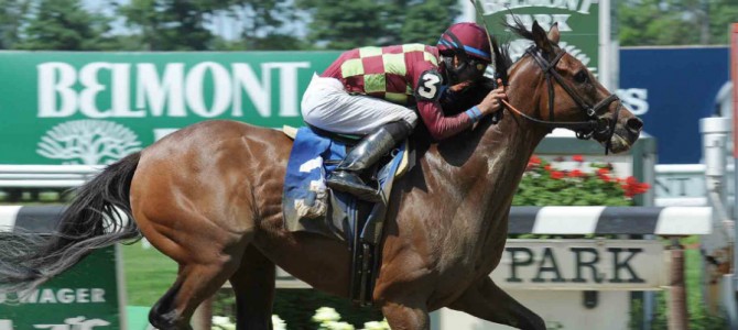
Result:
[[[240,267],[230,277],[238,330],[272,329],[274,277],[274,263],[253,245],[247,248]]]

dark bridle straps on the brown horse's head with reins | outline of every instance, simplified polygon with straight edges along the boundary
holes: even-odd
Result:
[[[599,101],[595,106],[589,106],[587,101],[582,98],[582,96],[576,92],[574,88],[564,79],[564,77],[556,72],[555,67],[558,61],[566,55],[566,51],[561,50],[558,54],[556,54],[556,57],[554,57],[553,61],[549,62],[546,61],[543,55],[541,55],[541,51],[535,47],[535,45],[529,47],[525,51],[525,55],[530,55],[535,63],[539,65],[539,67],[543,70],[543,74],[546,79],[546,85],[549,86],[549,120],[540,120],[533,117],[530,117],[522,111],[515,109],[512,107],[510,103],[507,101],[503,101],[504,105],[507,106],[508,109],[514,111],[515,113],[520,114],[521,117],[535,122],[536,124],[541,124],[551,129],[568,129],[572,130],[576,133],[576,138],[582,139],[582,140],[588,140],[592,139],[593,136],[597,141],[607,141],[606,148],[605,151],[607,152],[610,148],[610,141],[612,135],[615,134],[615,125],[618,122],[618,116],[620,114],[620,110],[622,109],[622,103],[618,105],[618,109],[615,111],[615,118],[610,121],[604,118],[600,118],[600,110],[607,109],[609,105],[614,101],[619,100],[618,96],[615,94],[610,94],[607,98],[604,100]],[[524,56],[524,55],[523,55]],[[566,90],[566,94],[568,94],[572,99],[579,106],[579,108],[586,113],[587,116],[587,121],[575,121],[575,122],[555,122],[554,120],[554,85],[553,85],[553,79],[561,85],[564,90]]]

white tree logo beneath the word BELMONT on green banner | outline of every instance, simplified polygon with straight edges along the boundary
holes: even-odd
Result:
[[[138,135],[127,127],[104,120],[75,120],[52,128],[36,153],[69,165],[111,164],[141,150]]]

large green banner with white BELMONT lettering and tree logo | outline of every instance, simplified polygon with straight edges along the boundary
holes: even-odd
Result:
[[[0,164],[107,164],[195,122],[301,125],[338,52],[0,53]]]

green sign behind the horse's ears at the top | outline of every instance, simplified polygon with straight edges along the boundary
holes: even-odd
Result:
[[[513,22],[518,16],[530,30],[533,21],[546,31],[558,23],[561,42],[558,45],[574,55],[589,70],[597,75],[599,68],[599,10],[600,1],[590,0],[481,0],[479,7],[491,33],[501,41],[512,37],[502,31],[501,22]],[[529,41],[512,40],[510,53],[513,59],[521,56],[531,45]]]

